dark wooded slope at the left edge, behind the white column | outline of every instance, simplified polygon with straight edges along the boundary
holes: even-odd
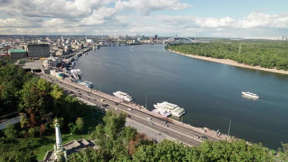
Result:
[[[32,140],[53,132],[56,117],[62,122],[62,131],[82,133],[83,120],[78,117],[93,114],[94,110],[65,95],[58,85],[0,61],[0,116],[14,111],[22,114],[20,125],[6,124],[0,131],[0,162],[36,161],[37,156],[28,144],[21,148],[17,145],[21,138]]]

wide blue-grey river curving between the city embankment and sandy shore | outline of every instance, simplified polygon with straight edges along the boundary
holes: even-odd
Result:
[[[208,127],[272,149],[288,143],[288,75],[185,57],[163,44],[101,47],[76,62],[82,81],[111,94],[121,91],[154,109],[183,106],[183,122]],[[251,100],[241,91],[260,96]]]

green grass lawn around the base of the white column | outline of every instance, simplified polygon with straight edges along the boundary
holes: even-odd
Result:
[[[94,120],[95,118],[96,120]],[[65,144],[72,140],[80,140],[85,139],[89,140],[88,132],[92,132],[95,130],[95,127],[98,125],[98,121],[102,121],[103,114],[98,114],[97,116],[87,115],[83,117],[85,129],[83,134],[73,134],[71,135],[67,128],[61,128],[62,135],[62,143]],[[39,132],[36,133],[39,135]],[[31,144],[32,141],[32,144]],[[38,160],[43,160],[47,151],[53,150],[55,143],[55,130],[47,130],[42,137],[34,137],[34,138],[21,138],[19,139],[20,149],[21,150],[31,150],[33,147],[34,153],[38,156]]]

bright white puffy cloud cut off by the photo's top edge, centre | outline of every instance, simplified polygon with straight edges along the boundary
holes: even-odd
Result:
[[[183,10],[192,7],[187,3],[180,3],[178,0],[116,0],[115,8],[119,11],[125,9],[136,9],[138,13],[148,15],[157,10]]]

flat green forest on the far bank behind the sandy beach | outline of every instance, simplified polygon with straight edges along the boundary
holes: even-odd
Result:
[[[240,52],[239,47],[241,46]],[[215,59],[230,59],[239,63],[265,68],[288,70],[288,43],[178,43],[165,47],[188,55],[205,56]]]

